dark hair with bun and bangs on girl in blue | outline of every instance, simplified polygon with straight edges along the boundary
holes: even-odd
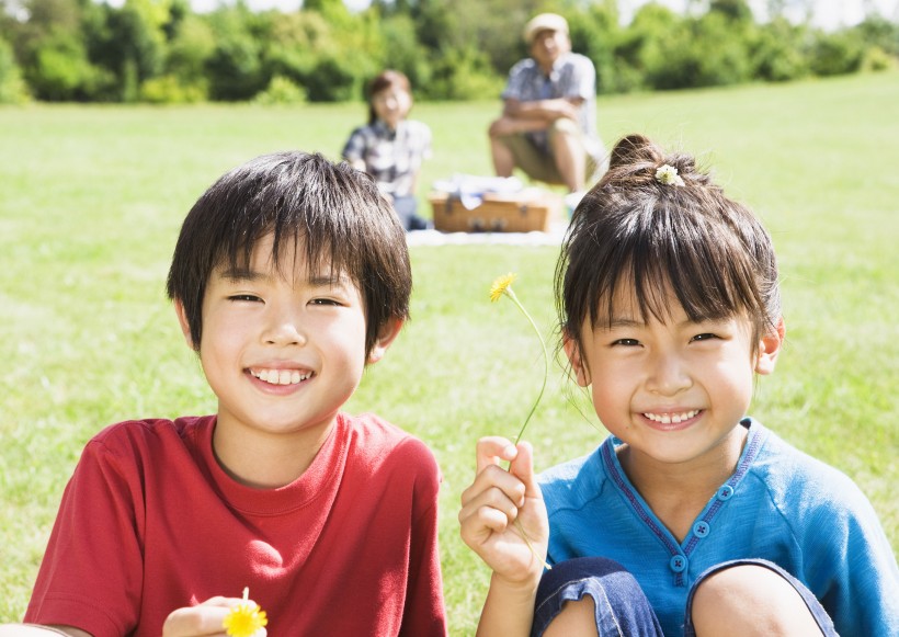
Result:
[[[682,185],[657,170],[678,170]],[[556,265],[562,333],[610,325],[613,297],[633,285],[641,318],[670,318],[672,291],[691,320],[744,314],[753,343],[781,318],[771,237],[743,205],[727,198],[695,160],[664,153],[641,135],[619,140],[610,169],[574,211]]]

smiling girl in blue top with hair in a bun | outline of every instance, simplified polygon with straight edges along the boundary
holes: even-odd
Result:
[[[746,207],[626,137],[574,213],[556,297],[612,435],[538,478],[526,443],[479,441],[459,513],[493,569],[479,635],[899,635],[869,502],[743,416],[784,340],[771,238]]]

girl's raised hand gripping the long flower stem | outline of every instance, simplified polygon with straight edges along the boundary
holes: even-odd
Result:
[[[508,471],[500,467],[502,460],[511,460]],[[515,447],[497,436],[478,441],[477,476],[462,494],[459,524],[463,541],[493,569],[494,577],[510,584],[536,585],[549,523],[528,443]]]

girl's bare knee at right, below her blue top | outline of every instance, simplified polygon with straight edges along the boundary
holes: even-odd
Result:
[[[721,569],[693,593],[691,616],[697,637],[820,637],[806,601],[777,571],[756,564]]]

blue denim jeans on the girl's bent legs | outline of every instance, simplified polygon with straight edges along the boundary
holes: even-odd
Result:
[[[719,564],[702,573],[687,595],[684,637],[695,637],[691,611],[696,587],[710,575],[738,565],[753,564],[777,572],[801,595],[824,637],[838,637],[824,608],[803,583],[777,565],[763,559],[739,559]],[[546,571],[537,590],[532,637],[539,637],[566,602],[593,598],[596,634],[600,637],[664,637],[656,613],[640,584],[622,565],[603,557],[561,561]]]

